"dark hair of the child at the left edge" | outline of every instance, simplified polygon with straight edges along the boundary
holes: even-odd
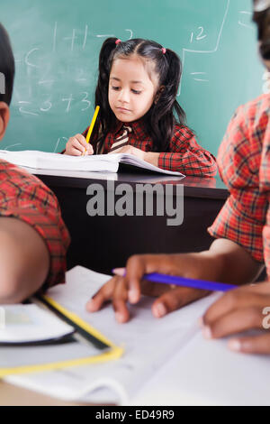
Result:
[[[10,105],[14,88],[14,53],[2,23],[0,23],[0,72],[1,78],[4,78],[4,93],[1,90],[0,102]]]

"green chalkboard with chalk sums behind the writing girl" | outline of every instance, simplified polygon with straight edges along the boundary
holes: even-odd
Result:
[[[58,152],[94,112],[98,54],[107,36],[175,50],[178,100],[216,154],[234,109],[263,91],[251,0],[0,0],[16,60],[11,122],[1,148]]]

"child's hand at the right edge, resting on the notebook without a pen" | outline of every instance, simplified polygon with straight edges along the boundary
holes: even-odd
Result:
[[[231,336],[252,328],[270,327],[270,282],[231,290],[214,302],[202,317],[206,338]],[[248,354],[270,354],[270,330],[257,336],[229,339],[229,348]]]

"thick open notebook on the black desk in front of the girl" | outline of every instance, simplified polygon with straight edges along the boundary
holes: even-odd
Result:
[[[184,177],[184,174],[181,172],[162,170],[161,168],[157,168],[157,166],[151,165],[147,161],[142,161],[133,154],[128,153],[70,156],[67,154],[31,150],[17,152],[0,150],[0,159],[4,159],[5,161],[14,163],[14,165],[26,168],[54,171],[117,172],[119,164],[124,163],[148,171]]]

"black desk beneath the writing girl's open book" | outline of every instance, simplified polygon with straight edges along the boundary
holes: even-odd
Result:
[[[57,172],[55,172],[57,173]],[[110,273],[113,267],[124,266],[133,253],[184,253],[199,252],[211,244],[206,229],[217,216],[228,197],[228,191],[220,178],[199,179],[164,176],[162,174],[85,173],[70,176],[44,175],[35,172],[58,197],[63,218],[72,238],[67,253],[67,268],[76,264],[97,272]],[[74,175],[74,173],[72,173]],[[184,185],[184,222],[181,226],[167,226],[163,217],[89,217],[86,195],[89,184],[99,184],[100,191],[107,193],[107,183],[117,188],[122,183],[132,187],[135,197],[136,184]],[[112,183],[113,181],[113,183]],[[175,191],[174,191],[175,192]],[[175,197],[176,194],[174,194]],[[115,196],[115,201],[121,196]],[[134,205],[135,205],[135,198]]]

